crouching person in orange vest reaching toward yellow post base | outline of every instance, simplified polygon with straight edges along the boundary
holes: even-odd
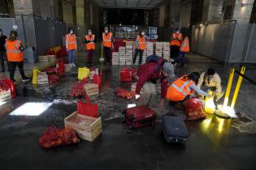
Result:
[[[180,79],[177,79],[174,83],[168,87],[167,90],[167,100],[171,102],[176,102],[176,108],[184,108],[183,104],[186,100],[189,100],[193,92],[202,96],[209,96],[206,91],[202,91],[197,87],[198,79],[200,74],[193,72],[189,75],[184,75]]]

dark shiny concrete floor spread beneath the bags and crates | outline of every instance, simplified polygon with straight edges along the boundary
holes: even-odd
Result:
[[[78,53],[76,64],[83,66],[85,53]],[[95,58],[98,62],[98,58]],[[176,77],[191,71],[204,71],[213,66],[227,85],[230,66],[194,53],[189,63],[176,67]],[[102,66],[103,91],[91,97],[98,103],[102,116],[102,134],[95,142],[80,141],[78,145],[41,149],[38,138],[50,125],[61,128],[64,118],[76,110],[76,100],[68,96],[77,83],[77,70],[67,74],[58,84],[35,87],[18,84],[19,96],[0,106],[0,169],[255,169],[256,87],[246,80],[241,85],[236,104],[238,118],[224,120],[208,115],[203,121],[185,121],[189,138],[185,145],[168,144],[161,134],[161,115],[184,117],[184,112],[169,104],[158,108],[159,92],[154,107],[158,114],[155,129],[128,130],[122,110],[134,100],[116,98],[118,87],[129,89],[131,83],[119,83],[123,66]],[[256,68],[248,66],[246,74],[255,79]],[[235,77],[237,79],[237,76]],[[234,80],[234,82],[236,82]],[[233,83],[235,87],[235,83]],[[159,86],[157,87],[159,89]],[[159,90],[158,90],[159,91]],[[27,102],[68,102],[53,104],[37,117],[11,116],[11,111]],[[36,108],[35,108],[36,109]]]

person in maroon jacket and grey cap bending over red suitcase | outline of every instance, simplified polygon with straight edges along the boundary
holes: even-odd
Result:
[[[149,107],[155,104],[155,85],[158,79],[161,82],[161,103],[163,103],[167,92],[167,84],[169,80],[175,77],[174,67],[171,63],[159,58],[157,62],[146,62],[141,65],[137,70],[137,76],[138,81],[135,92],[136,94],[140,94],[141,88],[143,89],[140,104]]]

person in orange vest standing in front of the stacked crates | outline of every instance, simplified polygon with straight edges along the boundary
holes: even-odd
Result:
[[[135,40],[135,53],[134,53],[134,57],[132,60],[132,66],[135,66],[135,62],[137,60],[137,55],[138,53],[140,53],[140,59],[139,59],[139,65],[141,65],[142,62],[142,56],[143,56],[143,52],[146,48],[145,45],[145,39],[147,37],[145,36],[145,32],[143,30],[140,31],[139,35],[137,35],[137,39]]]

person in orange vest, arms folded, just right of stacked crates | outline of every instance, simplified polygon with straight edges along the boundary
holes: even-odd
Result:
[[[180,45],[182,40],[182,34],[179,28],[176,28],[176,32],[171,34],[171,58],[176,58],[180,52]]]

